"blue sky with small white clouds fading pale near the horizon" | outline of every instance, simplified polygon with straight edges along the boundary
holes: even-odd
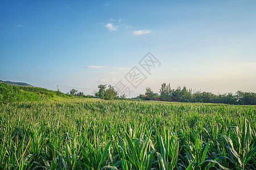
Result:
[[[128,97],[164,82],[256,92],[255,8],[254,0],[1,1],[0,80],[90,95],[111,84]]]

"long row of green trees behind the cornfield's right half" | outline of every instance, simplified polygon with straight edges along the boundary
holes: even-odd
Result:
[[[191,88],[178,86],[176,89],[171,88],[170,83],[163,83],[158,93],[154,93],[150,87],[146,88],[146,96],[140,95],[144,100],[155,100],[160,97],[162,101],[179,101],[179,102],[200,102],[200,103],[224,103],[240,105],[256,105],[256,93],[237,91],[226,94],[215,95],[212,92],[195,91]]]

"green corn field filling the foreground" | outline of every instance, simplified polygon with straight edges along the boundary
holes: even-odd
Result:
[[[0,169],[256,169],[256,106],[2,104]]]

